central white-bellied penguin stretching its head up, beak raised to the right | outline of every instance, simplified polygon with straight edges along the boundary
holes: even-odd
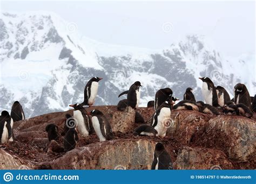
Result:
[[[154,112],[151,126],[157,130],[158,137],[165,137],[167,129],[171,126],[172,100],[166,101]]]

